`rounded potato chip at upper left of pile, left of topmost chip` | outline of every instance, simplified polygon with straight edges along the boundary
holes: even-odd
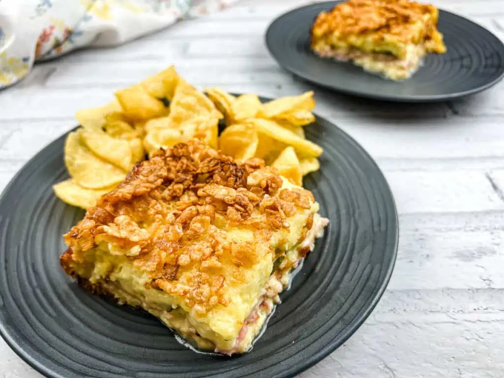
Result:
[[[141,85],[116,91],[115,97],[121,104],[124,114],[132,119],[159,117],[168,111],[163,102],[152,97]]]

